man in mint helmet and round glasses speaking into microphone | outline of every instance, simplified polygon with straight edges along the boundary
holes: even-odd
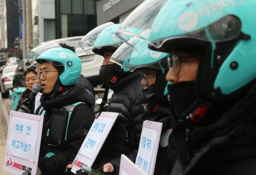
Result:
[[[43,94],[35,114],[44,116],[44,123],[37,175],[62,175],[94,121],[92,100],[84,87],[76,85],[82,62],[76,53],[52,42],[27,55],[31,63],[41,64],[38,77]],[[31,101],[24,100],[20,112],[31,113]]]

